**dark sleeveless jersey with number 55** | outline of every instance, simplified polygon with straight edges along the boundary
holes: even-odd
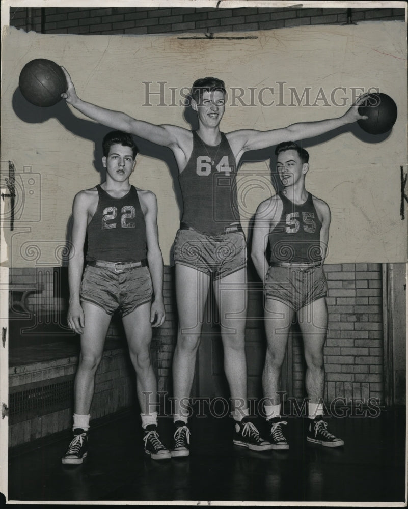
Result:
[[[281,192],[283,210],[276,227],[269,233],[270,263],[310,263],[321,260],[321,222],[309,193],[302,205],[296,205]]]

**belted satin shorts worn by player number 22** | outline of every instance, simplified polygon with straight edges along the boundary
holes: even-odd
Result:
[[[147,267],[134,267],[115,272],[106,267],[87,265],[80,287],[81,301],[91,302],[113,315],[122,317],[152,300],[152,280]]]

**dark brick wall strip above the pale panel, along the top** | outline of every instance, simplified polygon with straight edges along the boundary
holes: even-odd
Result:
[[[402,8],[351,9],[352,21],[400,20]],[[46,34],[239,32],[347,22],[347,8],[10,8],[10,25]],[[43,17],[42,17],[43,15]]]

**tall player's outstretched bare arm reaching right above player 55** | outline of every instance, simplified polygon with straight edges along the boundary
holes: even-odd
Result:
[[[232,133],[234,139],[239,139],[239,145],[242,151],[259,150],[281,142],[295,142],[300,139],[319,136],[326,132],[337,129],[347,124],[352,124],[360,119],[367,119],[367,116],[359,114],[359,106],[364,102],[366,95],[361,96],[355,104],[342,116],[336,119],[321,120],[317,122],[301,122],[292,124],[282,129],[272,129],[270,131],[256,131],[252,129],[243,129]]]

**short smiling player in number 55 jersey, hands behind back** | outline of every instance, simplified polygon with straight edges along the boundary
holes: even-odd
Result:
[[[293,142],[275,149],[281,192],[262,202],[255,216],[252,260],[264,284],[266,358],[262,376],[264,408],[274,449],[288,449],[283,434],[279,383],[293,318],[303,336],[308,395],[308,442],[339,447],[343,440],[327,430],[323,420],[323,346],[328,326],[327,256],[330,208],[306,190],[308,152]],[[270,245],[270,259],[265,257]]]

